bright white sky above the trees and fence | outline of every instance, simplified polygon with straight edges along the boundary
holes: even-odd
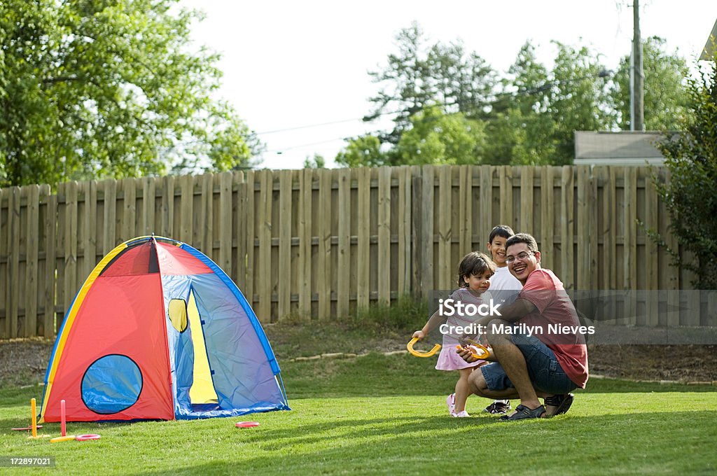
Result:
[[[396,36],[417,22],[428,44],[460,39],[505,73],[530,39],[550,67],[551,40],[586,45],[616,70],[630,54],[632,0],[513,1],[236,1],[181,0],[204,11],[192,27],[197,45],[222,54],[218,97],[265,143],[261,168],[303,168],[315,153],[333,158],[345,138],[390,128],[390,118],[364,123],[381,70],[397,52]],[[693,63],[717,19],[715,0],[641,0],[642,37],[657,35],[667,51]]]

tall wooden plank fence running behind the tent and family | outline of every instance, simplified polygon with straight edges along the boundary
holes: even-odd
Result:
[[[667,232],[645,167],[263,170],[12,187],[0,191],[0,337],[54,335],[104,254],[151,233],[211,257],[262,322],[341,319],[450,289],[460,258],[485,250],[495,224],[533,234],[566,289],[689,289],[691,276],[638,220]]]

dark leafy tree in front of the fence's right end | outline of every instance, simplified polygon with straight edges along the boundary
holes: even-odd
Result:
[[[673,265],[695,272],[698,289],[717,289],[717,55],[697,77],[688,79],[688,111],[678,134],[659,143],[670,181],[654,178],[657,194],[670,214],[670,232],[683,252],[665,245],[655,230],[650,237],[673,257]]]

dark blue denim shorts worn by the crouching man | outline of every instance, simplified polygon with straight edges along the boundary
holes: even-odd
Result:
[[[546,394],[566,394],[577,388],[561,368],[555,353],[536,336],[523,334],[511,335],[511,341],[521,350],[528,365],[528,375],[533,387]],[[489,390],[513,388],[511,380],[505,375],[500,363],[493,362],[480,367]]]

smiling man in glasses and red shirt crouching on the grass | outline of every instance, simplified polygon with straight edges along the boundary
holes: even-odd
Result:
[[[588,379],[587,346],[577,313],[563,283],[541,268],[535,238],[518,233],[505,248],[505,262],[523,290],[515,303],[500,307],[500,316],[478,320],[485,326],[493,363],[470,375],[470,389],[489,399],[519,398],[516,411],[500,417],[504,421],[565,413],[574,399],[569,391],[584,389]],[[467,362],[477,360],[469,349],[457,352]]]

